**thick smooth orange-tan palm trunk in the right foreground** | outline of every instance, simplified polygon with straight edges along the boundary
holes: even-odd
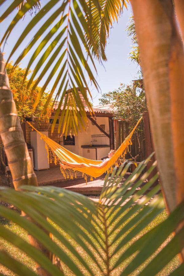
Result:
[[[143,8],[139,0],[131,4],[161,185],[171,212],[184,199],[183,44],[171,0],[145,0]]]

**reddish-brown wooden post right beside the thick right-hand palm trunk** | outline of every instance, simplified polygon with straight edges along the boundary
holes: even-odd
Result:
[[[154,151],[148,111],[144,112],[143,121],[144,121],[144,133],[145,133],[145,144],[146,144],[146,157],[148,157]],[[154,162],[155,162],[155,155],[153,155],[151,157],[151,160],[148,162],[148,165],[147,165],[148,169],[151,167],[151,165]],[[157,171],[158,171],[157,168],[155,168],[149,175],[148,180],[151,179],[157,173]],[[156,184],[157,182],[154,183],[154,185]]]

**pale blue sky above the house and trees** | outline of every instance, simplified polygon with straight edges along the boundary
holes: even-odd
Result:
[[[3,10],[5,10],[11,2],[12,0],[6,1],[6,5],[2,6],[1,8],[1,14]],[[41,2],[42,4],[44,3],[44,1]],[[93,86],[89,86],[93,97],[94,105],[98,105],[98,99],[101,97],[101,93],[106,93],[114,89],[117,89],[120,86],[120,83],[128,84],[131,82],[132,79],[135,79],[137,77],[137,65],[133,63],[130,59],[128,59],[128,53],[131,49],[131,40],[130,37],[127,36],[127,32],[125,31],[131,13],[131,6],[128,6],[128,10],[124,9],[121,18],[119,18],[118,23],[115,22],[113,24],[113,28],[110,29],[109,39],[107,41],[108,43],[106,47],[106,55],[108,59],[107,62],[104,62],[102,65],[99,64],[97,60],[95,60],[98,75],[95,74],[94,76],[96,76],[101,92],[98,93]],[[12,18],[14,14],[12,14],[10,18]],[[2,37],[2,35],[4,34],[4,31],[7,28],[7,24],[10,23],[10,18],[1,23],[0,37]],[[5,59],[7,59],[7,57],[9,56],[13,45],[15,44],[18,36],[20,36],[20,33],[24,30],[29,20],[30,16],[27,14],[24,21],[19,21],[17,26],[14,28],[14,31],[11,33],[4,47]],[[26,43],[28,42],[29,38],[27,38]],[[24,47],[24,44],[21,45],[20,50],[24,49]],[[17,56],[18,54],[15,53],[12,59],[15,61]],[[28,61],[29,56],[26,56],[25,59],[23,59],[21,62],[21,67],[26,67]],[[34,63],[31,69],[33,68]],[[51,83],[49,83],[48,89],[51,89],[53,82],[54,80]],[[42,81],[40,82],[40,85],[43,84],[44,79],[42,79]]]

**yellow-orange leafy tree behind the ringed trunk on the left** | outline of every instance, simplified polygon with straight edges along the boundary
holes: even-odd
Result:
[[[37,86],[36,89],[32,91],[32,87],[35,83],[35,81],[33,81],[30,88],[27,89],[26,87],[29,80],[26,78],[23,82],[26,68],[21,68],[19,65],[13,71],[12,68],[12,63],[8,63],[6,69],[9,77],[10,89],[13,92],[13,99],[16,104],[20,121],[23,122],[26,120],[26,117],[32,117],[32,115],[38,119],[48,121],[51,115],[52,103],[48,105],[45,114],[42,114],[42,111],[49,93],[44,92],[39,104],[36,106],[36,109],[33,110],[33,103],[36,100],[41,87]]]

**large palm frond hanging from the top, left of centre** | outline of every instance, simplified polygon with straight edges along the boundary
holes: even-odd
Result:
[[[14,26],[22,18],[22,16],[24,16],[27,11],[33,9],[35,5],[39,4],[36,0],[25,1],[24,3],[15,0],[14,5],[11,4],[5,13],[0,17],[0,22],[4,20],[10,11],[13,10],[15,3],[17,6],[21,5],[21,8],[6,30],[0,43],[1,45],[2,43],[6,44],[6,41],[10,37]],[[98,1],[93,0],[91,3],[99,14],[103,14],[102,8]],[[52,13],[48,16],[48,12],[50,12],[50,10],[52,10]],[[88,24],[89,21],[91,22],[91,25]],[[84,71],[87,73],[87,78],[90,79],[91,83],[98,90],[98,84],[93,74],[93,71],[96,71],[96,68],[92,53],[90,52],[90,47],[88,43],[86,43],[87,38],[91,45],[95,45],[96,38],[94,38],[93,33],[93,26],[97,25],[97,22],[95,21],[97,21],[97,19],[93,16],[91,9],[86,4],[85,0],[49,1],[38,11],[38,13],[25,27],[7,60],[7,62],[10,61],[12,55],[20,49],[20,44],[25,43],[25,40],[27,36],[29,36],[29,33],[32,31],[33,27],[41,22],[39,29],[35,31],[33,39],[18,56],[14,67],[17,66],[17,64],[19,64],[21,60],[36,46],[36,49],[30,57],[27,70],[25,72],[25,78],[29,73],[33,62],[36,63],[36,66],[30,77],[28,88],[37,76],[38,77],[32,87],[32,91],[34,91],[40,81],[45,78],[43,89],[38,94],[36,102],[34,103],[34,108],[36,108],[36,105],[40,101],[40,98],[47,89],[49,83],[54,80],[48,101],[54,99],[53,102],[56,102],[61,95],[59,106],[60,108],[62,105],[64,106],[62,110],[59,110],[59,113],[56,113],[56,119],[53,122],[52,131],[55,127],[55,122],[58,116],[61,116],[62,118],[65,117],[65,120],[67,121],[67,124],[59,125],[58,133],[61,131],[62,134],[67,132],[77,134],[79,129],[86,128],[88,120],[82,100],[77,95],[79,94],[78,88],[86,101],[89,112],[91,115],[93,114],[91,103],[87,97],[87,93],[90,96],[91,94],[87,86],[88,79],[86,79]],[[50,30],[51,24],[54,24],[54,26]],[[96,34],[97,33],[95,33],[95,36]],[[40,38],[41,41],[37,44]],[[94,52],[98,55],[98,49],[95,47]],[[56,92],[57,87],[59,87],[59,89]],[[69,94],[68,97],[66,97],[67,94]],[[47,109],[48,101],[44,106],[44,112]],[[70,108],[68,108],[68,105],[70,105]],[[78,124],[77,121],[80,123]]]

